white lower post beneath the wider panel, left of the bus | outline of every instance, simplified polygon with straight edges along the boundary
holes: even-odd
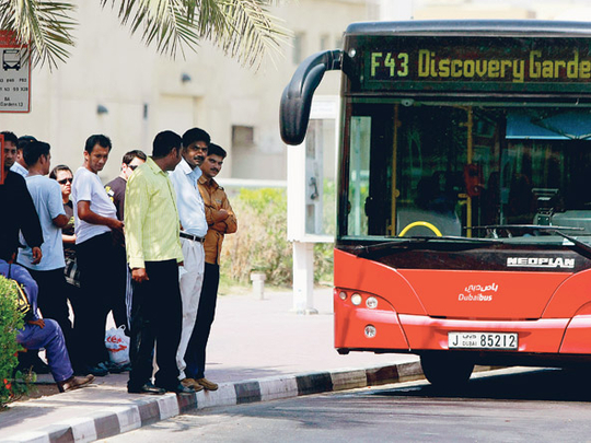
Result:
[[[293,311],[317,314],[314,308],[314,244],[293,242]]]

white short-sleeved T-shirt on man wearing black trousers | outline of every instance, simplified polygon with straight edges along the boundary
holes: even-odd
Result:
[[[106,194],[99,175],[90,172],[85,167],[80,167],[72,182],[72,194],[74,215],[76,215],[76,244],[80,244],[96,235],[109,232],[111,229],[103,224],[92,224],[80,220],[78,217],[78,202],[90,201],[90,210],[99,215],[109,219],[117,219],[117,209]]]

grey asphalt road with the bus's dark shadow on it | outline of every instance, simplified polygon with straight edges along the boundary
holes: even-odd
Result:
[[[506,370],[463,392],[427,382],[175,417],[107,442],[591,442],[586,372]]]

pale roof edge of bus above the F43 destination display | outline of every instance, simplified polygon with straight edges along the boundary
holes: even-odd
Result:
[[[417,20],[351,23],[345,35],[591,35],[590,22],[544,20]]]

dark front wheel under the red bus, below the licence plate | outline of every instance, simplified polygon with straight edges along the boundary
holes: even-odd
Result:
[[[437,387],[456,387],[467,383],[474,362],[465,355],[433,352],[420,355],[425,377]]]

